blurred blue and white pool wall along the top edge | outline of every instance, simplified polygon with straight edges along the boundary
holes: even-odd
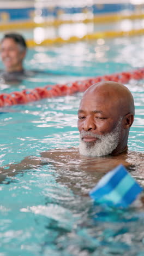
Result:
[[[83,3],[73,3],[68,1],[67,4],[63,4],[62,1],[57,3],[49,3],[49,1],[37,1],[37,2],[27,2],[27,1],[6,1],[5,3],[0,3],[0,21],[17,21],[17,20],[31,20],[37,13],[43,18],[52,16],[57,18],[57,16],[62,14],[80,14],[91,12],[93,15],[97,14],[110,14],[118,13],[119,11],[129,10],[135,11],[136,5],[125,3],[120,1],[95,1],[97,4],[88,4],[85,1]],[[106,2],[106,3],[105,3]],[[93,2],[94,3],[94,2]]]

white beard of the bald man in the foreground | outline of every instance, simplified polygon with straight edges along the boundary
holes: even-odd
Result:
[[[118,146],[119,135],[121,132],[122,118],[119,118],[115,129],[105,135],[94,135],[92,132],[82,131],[80,133],[79,150],[81,155],[86,156],[103,156],[109,155]],[[99,140],[94,142],[83,141],[83,136],[96,137]]]

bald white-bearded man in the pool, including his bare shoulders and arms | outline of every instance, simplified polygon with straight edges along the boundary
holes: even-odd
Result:
[[[131,168],[137,178],[142,177],[143,154],[128,150],[134,112],[133,96],[124,85],[110,81],[94,84],[83,94],[78,110],[79,148],[53,149],[40,153],[40,158],[25,158],[19,164],[10,165],[8,170],[1,168],[2,176],[51,163],[59,173],[61,168],[68,173],[64,183],[69,179],[69,172],[74,176],[75,171],[93,173],[97,182],[119,164]],[[59,176],[61,182],[62,179],[63,175]]]

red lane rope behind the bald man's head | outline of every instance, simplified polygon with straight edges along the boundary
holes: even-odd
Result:
[[[127,84],[130,79],[144,79],[144,68],[136,69],[131,72],[122,72],[111,75],[103,75],[85,80],[79,80],[67,84],[46,85],[43,88],[25,89],[13,91],[10,94],[0,94],[0,107],[13,106],[16,104],[26,104],[32,101],[39,101],[43,98],[60,97],[83,92],[92,84],[102,81],[114,81]]]

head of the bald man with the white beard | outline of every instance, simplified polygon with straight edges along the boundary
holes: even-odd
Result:
[[[124,85],[101,82],[88,88],[78,111],[80,154],[103,156],[127,151],[134,113],[133,96]]]

